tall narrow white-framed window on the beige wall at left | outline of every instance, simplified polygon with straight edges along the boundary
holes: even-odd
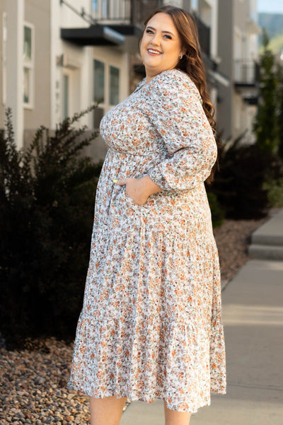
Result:
[[[23,27],[23,103],[33,107],[34,28]]]

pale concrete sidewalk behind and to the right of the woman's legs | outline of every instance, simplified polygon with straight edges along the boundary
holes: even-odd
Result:
[[[283,236],[282,211],[268,222]],[[222,292],[222,319],[227,394],[190,425],[282,425],[283,261],[249,260]],[[121,425],[164,425],[163,401],[132,402]]]

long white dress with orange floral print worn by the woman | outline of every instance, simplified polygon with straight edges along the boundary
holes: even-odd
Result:
[[[216,160],[195,83],[163,71],[110,110],[67,388],[197,412],[226,394],[219,257],[204,188]],[[138,205],[125,185],[161,187]]]

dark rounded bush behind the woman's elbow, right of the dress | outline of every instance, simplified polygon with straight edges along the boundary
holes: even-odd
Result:
[[[240,144],[238,138],[222,151],[219,173],[216,173],[209,192],[217,200],[229,219],[259,219],[266,216],[269,207],[268,179],[282,175],[282,163],[271,151],[257,144]]]

